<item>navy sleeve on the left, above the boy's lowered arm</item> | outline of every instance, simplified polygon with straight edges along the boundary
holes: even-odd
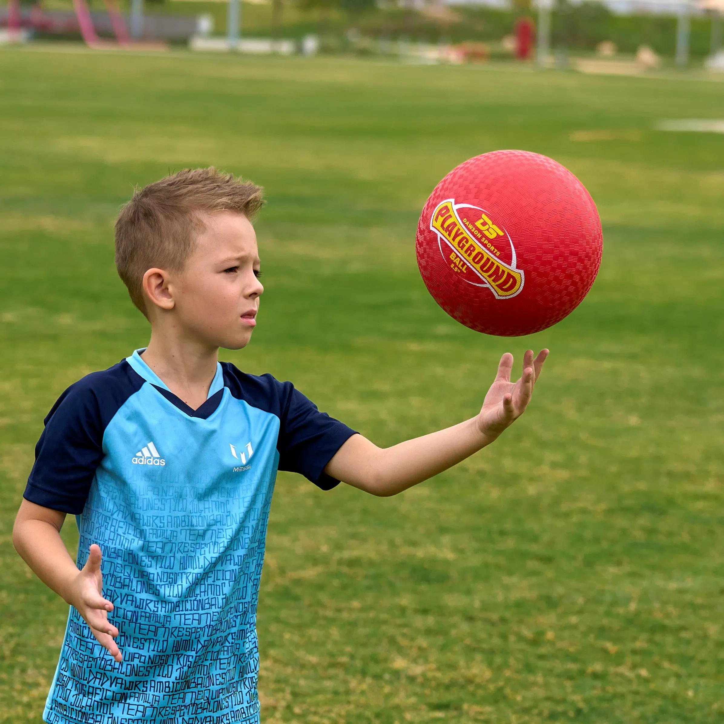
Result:
[[[83,513],[104,455],[106,426],[142,385],[143,378],[122,361],[83,377],[63,392],[45,418],[22,497],[61,513]]]

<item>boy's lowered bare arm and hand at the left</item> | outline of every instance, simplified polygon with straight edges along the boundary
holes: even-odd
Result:
[[[60,537],[65,513],[23,500],[12,529],[12,544],[38,578],[74,606],[91,633],[116,661],[121,652],[113,640],[118,629],[109,623],[113,604],[101,595],[101,549],[90,546],[88,560],[78,571]]]

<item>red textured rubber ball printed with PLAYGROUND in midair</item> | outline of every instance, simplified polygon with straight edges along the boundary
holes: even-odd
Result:
[[[596,205],[553,159],[493,151],[439,182],[417,227],[417,263],[434,300],[499,337],[547,329],[581,303],[601,264]]]

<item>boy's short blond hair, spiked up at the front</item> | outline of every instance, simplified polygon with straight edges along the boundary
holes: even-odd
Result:
[[[146,315],[148,269],[183,269],[205,229],[203,214],[235,211],[251,220],[263,203],[261,186],[213,166],[184,169],[136,190],[116,220],[116,269],[135,306]]]

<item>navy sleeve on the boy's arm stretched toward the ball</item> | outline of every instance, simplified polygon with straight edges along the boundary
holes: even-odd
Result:
[[[355,430],[319,412],[291,382],[279,382],[271,374],[245,374],[227,362],[222,368],[224,384],[234,397],[279,417],[279,470],[301,473],[322,490],[340,483],[324,468]]]

